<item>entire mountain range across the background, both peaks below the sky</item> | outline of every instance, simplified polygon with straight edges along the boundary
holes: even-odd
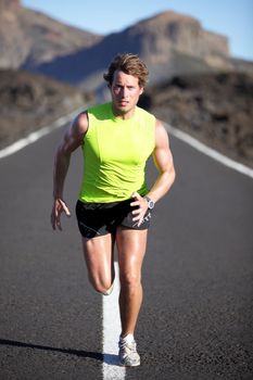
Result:
[[[172,11],[99,36],[24,8],[18,0],[0,0],[0,68],[42,73],[103,94],[102,74],[118,52],[139,54],[151,85],[179,74],[253,72],[251,62],[230,56],[227,37]]]

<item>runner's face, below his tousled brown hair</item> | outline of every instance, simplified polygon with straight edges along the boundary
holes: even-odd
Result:
[[[136,76],[116,71],[111,86],[115,116],[123,118],[131,117],[142,92],[143,88],[139,86],[139,79]]]

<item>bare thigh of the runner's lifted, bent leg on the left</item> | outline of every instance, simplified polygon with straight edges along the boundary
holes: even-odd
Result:
[[[93,284],[111,283],[114,278],[113,251],[115,238],[111,233],[87,239],[83,237],[83,249]]]

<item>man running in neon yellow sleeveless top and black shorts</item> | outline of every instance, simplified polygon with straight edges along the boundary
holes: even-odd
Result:
[[[52,228],[62,230],[64,180],[72,153],[80,148],[84,176],[76,204],[89,280],[109,295],[114,281],[114,246],[118,252],[119,363],[138,366],[135,329],[142,303],[141,267],[155,203],[170,189],[175,169],[167,132],[152,114],[137,106],[148,80],[138,55],[118,54],[104,79],[112,100],[81,112],[61,141],[54,160]],[[146,163],[153,156],[157,177],[148,189]]]

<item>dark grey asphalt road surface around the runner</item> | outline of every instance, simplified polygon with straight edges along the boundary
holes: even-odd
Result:
[[[0,161],[0,379],[102,379],[102,296],[87,280],[73,217],[51,230],[52,161],[62,129]],[[128,380],[253,378],[253,180],[172,138],[177,172],[157,205]],[[149,167],[150,180],[154,169]]]

